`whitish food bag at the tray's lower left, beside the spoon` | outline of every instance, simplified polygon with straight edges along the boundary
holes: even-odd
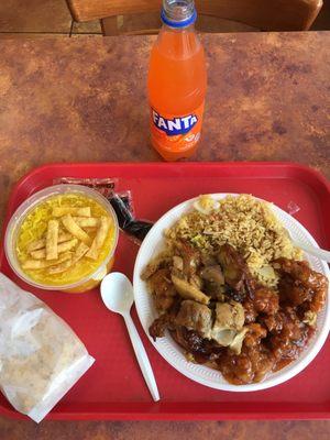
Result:
[[[40,422],[95,362],[43,301],[0,273],[0,388]]]

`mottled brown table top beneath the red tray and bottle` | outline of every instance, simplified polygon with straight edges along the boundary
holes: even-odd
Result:
[[[208,96],[196,161],[296,161],[330,177],[330,32],[204,36]],[[153,37],[0,41],[0,220],[22,175],[50,162],[160,161],[145,95]],[[329,438],[327,421],[32,422],[0,438]],[[4,436],[6,433],[6,436]]]

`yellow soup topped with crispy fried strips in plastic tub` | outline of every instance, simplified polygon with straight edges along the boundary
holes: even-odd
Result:
[[[109,255],[114,239],[113,220],[100,204],[64,194],[50,197],[28,213],[15,249],[21,268],[31,279],[63,286],[91,275]]]

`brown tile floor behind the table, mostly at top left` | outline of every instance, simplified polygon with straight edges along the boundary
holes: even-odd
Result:
[[[330,0],[323,2],[312,30],[330,30]],[[222,32],[230,32],[230,29],[224,26]],[[0,0],[0,37],[101,33],[98,20],[73,22],[65,0]]]

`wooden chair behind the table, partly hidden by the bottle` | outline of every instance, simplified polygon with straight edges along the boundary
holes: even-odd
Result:
[[[161,0],[67,0],[77,22],[101,20],[105,35],[151,34],[161,26]],[[195,0],[202,32],[307,31],[322,0]]]

